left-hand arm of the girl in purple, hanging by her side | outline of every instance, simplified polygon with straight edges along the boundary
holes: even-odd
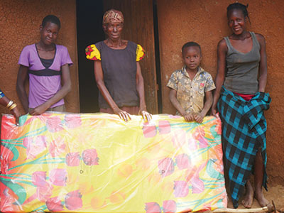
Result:
[[[26,94],[26,89],[25,89],[25,81],[27,77],[28,77],[28,67],[20,65],[20,67],[18,68],[16,90],[18,93],[18,98],[21,101],[25,113],[28,113],[28,95]]]

